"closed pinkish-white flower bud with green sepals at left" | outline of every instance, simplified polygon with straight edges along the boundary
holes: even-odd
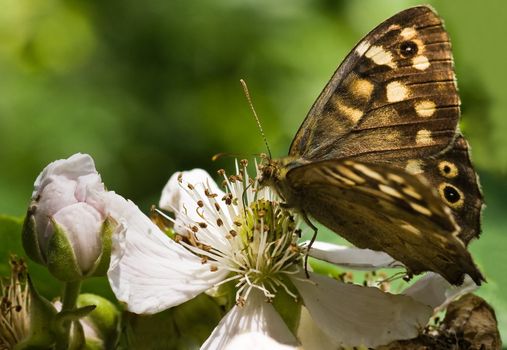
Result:
[[[46,166],[35,180],[23,227],[28,256],[62,281],[104,273],[113,227],[100,200],[105,192],[87,154]]]

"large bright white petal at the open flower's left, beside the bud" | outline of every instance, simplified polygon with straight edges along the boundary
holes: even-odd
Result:
[[[109,215],[120,223],[113,235],[108,271],[116,297],[135,313],[157,313],[192,299],[224,279],[210,263],[167,237],[132,202],[103,194]]]

